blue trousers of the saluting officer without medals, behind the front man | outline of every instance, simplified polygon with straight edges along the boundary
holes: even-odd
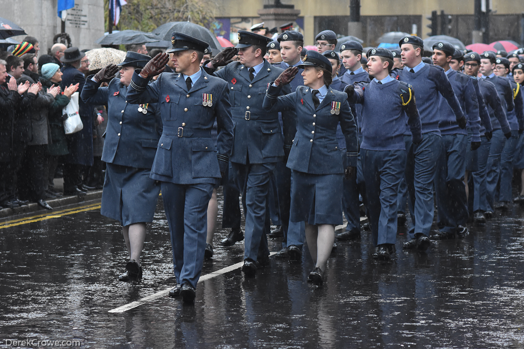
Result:
[[[266,208],[269,178],[275,163],[239,164],[231,163],[233,179],[239,191],[245,193],[246,216],[244,260],[257,260],[259,254],[269,256],[267,246]],[[260,253],[258,252],[260,247]]]

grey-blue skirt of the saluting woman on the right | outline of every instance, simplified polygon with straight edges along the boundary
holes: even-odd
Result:
[[[318,175],[292,171],[292,222],[342,224],[343,174]]]

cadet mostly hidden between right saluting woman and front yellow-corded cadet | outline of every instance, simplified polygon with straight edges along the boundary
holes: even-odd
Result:
[[[341,45],[340,51],[342,63],[346,68],[346,72],[341,75],[340,80],[348,85],[353,85],[355,82],[370,82],[369,74],[364,70],[360,62],[363,51],[362,45],[357,41],[346,41]],[[352,105],[351,108],[357,122],[358,141],[362,143],[362,134],[360,132],[362,127],[362,105]],[[358,193],[360,192],[363,198],[366,197],[364,182],[362,162],[359,156],[357,173],[344,180],[344,213],[346,214],[347,226],[345,231],[336,235],[337,240],[354,240],[358,239],[361,235]]]

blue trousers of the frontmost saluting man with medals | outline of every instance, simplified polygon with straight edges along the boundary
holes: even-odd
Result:
[[[178,284],[189,283],[196,288],[200,278],[208,234],[208,204],[214,186],[214,183],[161,183]]]

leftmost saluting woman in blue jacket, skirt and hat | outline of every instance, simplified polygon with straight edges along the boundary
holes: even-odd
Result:
[[[152,222],[157,207],[160,185],[149,178],[157,143],[162,134],[160,110],[156,104],[130,104],[126,101],[127,87],[135,69],[143,68],[151,59],[148,55],[127,51],[118,64],[120,78],[113,78],[118,66],[107,65],[96,75],[90,75],[82,89],[85,103],[107,104],[107,127],[102,161],[107,163],[102,215],[122,224],[129,252],[126,272],[119,280],[142,277],[140,255],[146,238],[146,222]],[[107,87],[99,87],[109,82]]]

